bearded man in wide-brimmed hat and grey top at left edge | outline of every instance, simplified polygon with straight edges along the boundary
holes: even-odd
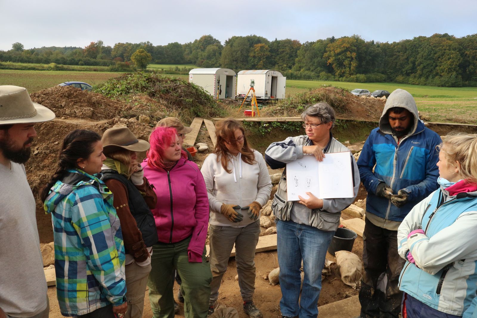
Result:
[[[50,311],[36,204],[23,164],[34,124],[54,118],[25,88],[0,85],[0,317],[47,318]]]

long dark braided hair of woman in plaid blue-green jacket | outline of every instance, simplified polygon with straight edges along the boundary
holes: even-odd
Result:
[[[87,159],[94,151],[94,144],[101,141],[101,136],[92,130],[76,129],[63,139],[58,154],[58,167],[50,181],[40,189],[41,201],[45,201],[51,187],[60,180],[68,169],[77,167],[80,158]]]

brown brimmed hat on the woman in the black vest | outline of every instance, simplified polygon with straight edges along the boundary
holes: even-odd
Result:
[[[108,154],[118,149],[127,149],[130,151],[146,151],[151,145],[142,139],[137,139],[129,128],[113,127],[106,129],[101,138],[103,144],[103,153]]]

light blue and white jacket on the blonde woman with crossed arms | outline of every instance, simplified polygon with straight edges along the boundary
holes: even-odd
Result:
[[[464,317],[471,317],[477,303],[476,196],[450,196],[441,187],[415,205],[397,232],[399,255],[407,259],[411,252],[415,259],[415,264],[404,265],[399,289],[432,308]],[[419,228],[425,234],[407,238]]]

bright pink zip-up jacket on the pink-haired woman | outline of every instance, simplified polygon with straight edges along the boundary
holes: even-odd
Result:
[[[176,243],[191,236],[187,248],[189,262],[202,262],[206,244],[209,204],[204,177],[197,164],[180,158],[169,171],[141,164],[144,176],[157,195],[152,214],[159,242]]]

